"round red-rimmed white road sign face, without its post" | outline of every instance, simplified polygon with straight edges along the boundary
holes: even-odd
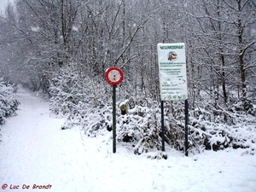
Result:
[[[117,85],[124,79],[124,73],[118,67],[110,67],[106,70],[105,78],[108,84]]]

